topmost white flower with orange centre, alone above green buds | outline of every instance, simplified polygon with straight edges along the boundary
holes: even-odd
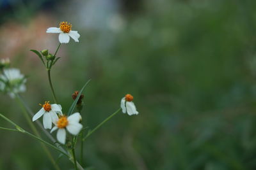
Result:
[[[60,27],[49,27],[47,33],[60,33],[59,41],[60,43],[68,43],[70,37],[73,38],[76,42],[79,42],[78,38],[80,34],[77,31],[71,31],[72,24],[68,22],[61,22]],[[69,37],[70,36],[70,37]]]

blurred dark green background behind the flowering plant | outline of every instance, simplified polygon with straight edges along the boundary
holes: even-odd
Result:
[[[0,57],[28,75],[31,110],[52,96],[29,50],[53,53],[58,35],[45,31],[61,21],[81,34],[61,45],[52,68],[63,111],[90,78],[82,115],[91,129],[134,96],[138,116],[119,113],[84,142],[88,169],[256,169],[256,1],[0,2]],[[31,131],[15,100],[0,100],[0,112]],[[38,141],[0,136],[0,169],[54,169]]]

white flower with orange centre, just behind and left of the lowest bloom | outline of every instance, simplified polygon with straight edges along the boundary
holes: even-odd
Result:
[[[58,120],[58,115],[62,115],[60,104],[50,104],[49,101],[45,101],[42,105],[42,109],[40,109],[32,118],[33,122],[38,118],[43,117],[43,124],[45,129],[51,129],[52,123],[55,123]]]

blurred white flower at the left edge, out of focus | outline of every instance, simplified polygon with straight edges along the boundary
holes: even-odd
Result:
[[[26,78],[23,74],[20,74],[19,69],[3,69],[0,80],[0,90],[8,92],[12,98],[15,97],[15,94],[26,91]]]

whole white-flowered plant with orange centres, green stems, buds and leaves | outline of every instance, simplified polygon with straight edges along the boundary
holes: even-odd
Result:
[[[60,152],[61,155],[65,155],[74,165],[74,169],[84,169],[86,167],[84,167],[83,164],[83,142],[121,110],[123,113],[127,113],[128,115],[138,115],[138,111],[136,110],[135,104],[132,102],[133,96],[131,94],[127,94],[122,97],[120,101],[120,108],[118,108],[118,110],[103,120],[95,128],[85,128],[84,122],[82,121],[82,110],[84,106],[84,96],[82,93],[90,80],[83,85],[81,90],[72,94],[74,102],[71,104],[70,108],[68,110],[62,110],[61,103],[58,103],[54,86],[52,85],[51,68],[60,59],[60,57],[57,57],[57,53],[61,44],[68,43],[70,41],[70,37],[74,39],[74,41],[79,42],[80,34],[77,31],[72,31],[72,25],[68,22],[60,22],[59,27],[50,27],[46,32],[59,33],[60,43],[58,44],[56,51],[53,54],[49,53],[49,50],[47,49],[41,51],[31,50],[31,52],[34,52],[39,57],[47,70],[49,87],[51,89],[52,101],[54,101],[54,103],[45,101],[44,104],[40,104],[40,109],[38,111],[31,111],[28,104],[26,104],[26,101],[24,101],[20,96],[20,92],[26,91],[26,81],[28,78],[24,76],[24,74],[21,74],[19,69],[11,68],[9,59],[1,59],[0,91],[16,99],[15,101],[17,101],[20,108],[22,108],[22,113],[24,114],[24,117],[26,118],[26,121],[31,127],[33,133],[26,131],[3,114],[0,114],[0,117],[12,124],[15,128],[0,127],[0,129],[5,131],[22,132],[31,138],[40,141],[42,149],[45,150],[45,153],[51,160],[55,169],[63,169],[63,167],[60,167],[57,164],[56,160],[52,157],[51,152],[49,152],[49,148]],[[76,113],[74,113],[75,109],[77,110]],[[36,125],[40,128],[40,131],[36,129],[34,122],[36,122]],[[52,135],[54,131],[56,131],[56,138]],[[51,142],[42,138],[42,132],[44,132]],[[85,134],[85,132],[87,133]],[[79,138],[81,146],[76,145],[77,139]],[[76,159],[77,148],[81,150],[80,161]]]

